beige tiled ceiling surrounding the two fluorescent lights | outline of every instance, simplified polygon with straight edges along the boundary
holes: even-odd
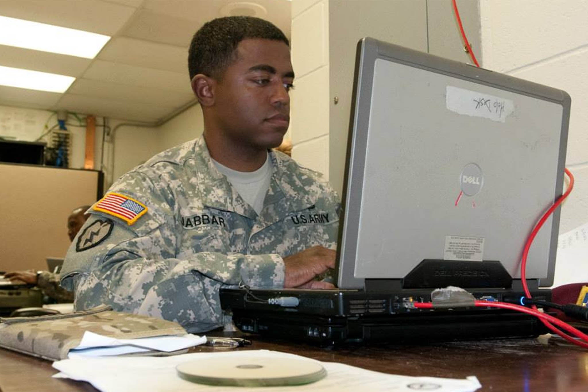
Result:
[[[0,0],[0,15],[113,37],[93,60],[0,46],[0,65],[77,78],[65,94],[0,86],[0,104],[137,121],[163,118],[194,99],[186,65],[193,33],[233,2]],[[262,5],[263,17],[290,35],[289,1],[250,2]]]

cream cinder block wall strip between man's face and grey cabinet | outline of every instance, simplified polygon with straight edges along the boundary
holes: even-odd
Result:
[[[292,157],[329,179],[329,2],[292,2]]]

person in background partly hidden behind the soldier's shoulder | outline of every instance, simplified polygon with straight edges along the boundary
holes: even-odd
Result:
[[[85,212],[90,206],[81,206],[74,209],[68,216],[68,237],[73,241],[79,229],[88,219]],[[51,271],[15,271],[4,274],[6,279],[12,282],[25,282],[41,289],[42,293],[58,303],[69,303],[74,301],[74,293],[59,286],[59,274]]]

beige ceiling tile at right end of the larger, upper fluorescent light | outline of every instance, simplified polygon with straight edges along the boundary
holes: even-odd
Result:
[[[113,38],[98,59],[188,75],[188,48],[141,39]]]

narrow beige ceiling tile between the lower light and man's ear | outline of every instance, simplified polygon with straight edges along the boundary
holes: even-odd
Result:
[[[69,88],[68,93],[115,99],[121,102],[151,103],[152,105],[172,107],[182,106],[189,100],[195,99],[192,92],[178,93],[89,79],[77,79]]]

